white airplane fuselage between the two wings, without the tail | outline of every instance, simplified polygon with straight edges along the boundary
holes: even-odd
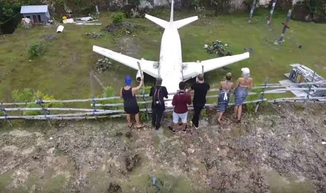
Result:
[[[173,23],[164,30],[161,51],[159,76],[163,79],[162,85],[166,87],[168,93],[179,90],[179,82],[183,81],[182,77],[182,53],[181,41],[178,30]],[[168,98],[172,99],[173,95]],[[170,102],[166,102],[166,105]]]

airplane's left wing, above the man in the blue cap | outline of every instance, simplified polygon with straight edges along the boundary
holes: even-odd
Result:
[[[152,77],[158,77],[158,64],[159,62],[155,62],[155,61],[149,61],[149,60],[144,60],[144,59],[136,59],[136,58],[132,58],[130,56],[126,56],[123,55],[121,53],[118,52],[114,52],[112,50],[106,49],[106,48],[102,48],[96,45],[93,45],[93,51],[96,53],[99,53],[105,57],[111,58],[117,62],[120,62],[132,69],[135,69],[138,71],[138,65],[137,62],[140,63],[141,65],[141,70],[152,76]]]

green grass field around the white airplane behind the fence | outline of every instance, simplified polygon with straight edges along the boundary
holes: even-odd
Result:
[[[163,19],[168,18],[168,11],[162,12]],[[90,78],[90,69],[94,60],[101,56],[92,52],[92,46],[103,46],[118,50],[124,45],[115,43],[117,38],[106,35],[102,39],[88,39],[86,32],[100,32],[101,28],[111,23],[110,12],[102,13],[102,26],[65,25],[62,34],[56,34],[56,27],[35,27],[25,30],[18,28],[12,35],[0,37],[0,101],[12,101],[10,93],[14,89],[32,88],[40,90],[56,99],[87,98],[98,96],[102,88],[96,80]],[[175,19],[195,15],[195,12],[181,11],[175,13]],[[267,10],[255,10],[253,21],[247,24],[247,13],[235,13],[218,17],[206,17],[179,30],[183,61],[197,61],[214,58],[203,49],[203,45],[219,39],[229,44],[234,54],[242,53],[244,47],[253,48],[250,59],[228,66],[234,77],[239,77],[241,68],[249,67],[254,83],[263,83],[268,76],[269,82],[284,79],[290,71],[289,64],[301,63],[326,77],[326,25],[304,23],[291,20],[290,29],[285,34],[285,42],[281,46],[273,45],[279,38],[286,13],[276,12],[273,17],[272,31],[266,25]],[[137,45],[134,57],[148,60],[159,59],[161,31],[151,21],[126,19],[143,24],[148,30],[129,35],[128,38]],[[31,59],[26,51],[29,42],[40,39],[42,35],[53,34],[50,47],[44,55]],[[267,42],[265,42],[265,37]],[[122,37],[125,38],[125,37]],[[303,46],[297,48],[295,41]],[[127,48],[126,48],[127,49]],[[120,65],[120,64],[118,64]],[[213,86],[224,79],[227,71],[218,69],[206,74],[206,80]],[[97,75],[105,86],[117,88],[123,85],[124,75],[135,76],[136,72],[120,65],[114,72]],[[152,85],[153,79],[146,84]],[[135,84],[135,82],[133,82]],[[118,93],[118,92],[117,92]]]

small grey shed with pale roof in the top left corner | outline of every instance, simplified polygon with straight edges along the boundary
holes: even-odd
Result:
[[[50,20],[50,13],[47,5],[26,5],[22,6],[20,13],[24,18],[28,18],[32,21],[33,25],[47,24]]]

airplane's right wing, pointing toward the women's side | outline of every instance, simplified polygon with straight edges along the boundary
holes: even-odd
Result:
[[[220,58],[214,58],[210,60],[197,61],[197,62],[184,62],[182,63],[183,69],[183,79],[188,80],[190,78],[196,77],[198,74],[202,73],[204,67],[204,73],[211,70],[221,68],[223,66],[239,62],[241,60],[249,58],[249,52],[243,54],[224,56]]]

